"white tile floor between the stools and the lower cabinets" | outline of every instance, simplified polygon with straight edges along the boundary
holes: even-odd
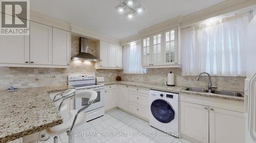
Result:
[[[186,139],[170,135],[161,136],[159,133],[163,133],[162,131],[118,109],[107,111],[103,117],[76,127],[74,132],[75,143],[192,143]],[[87,133],[91,133],[91,135],[87,135]],[[60,135],[59,138],[62,142],[68,142],[66,133]],[[52,143],[53,141],[48,140],[47,142]]]

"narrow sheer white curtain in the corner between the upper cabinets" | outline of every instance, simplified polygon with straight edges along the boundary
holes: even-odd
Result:
[[[141,41],[132,42],[123,47],[123,73],[142,74],[146,69],[141,67]]]

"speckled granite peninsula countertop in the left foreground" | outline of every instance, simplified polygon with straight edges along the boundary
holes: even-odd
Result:
[[[8,142],[63,122],[49,93],[69,85],[0,91],[0,142]]]

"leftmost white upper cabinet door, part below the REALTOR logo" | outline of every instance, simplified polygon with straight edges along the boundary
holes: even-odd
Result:
[[[29,36],[0,35],[0,63],[29,64]]]

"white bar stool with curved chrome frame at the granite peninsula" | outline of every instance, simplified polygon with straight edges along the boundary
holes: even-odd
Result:
[[[97,92],[92,90],[83,90],[79,93],[76,93],[75,95],[63,97],[61,98],[62,101],[59,106],[59,111],[62,108],[61,106],[63,101],[73,96],[75,96],[76,98],[88,98],[88,104],[86,106],[83,106],[81,109],[70,110],[69,112],[60,112],[61,116],[63,117],[63,123],[46,130],[49,135],[55,136],[54,143],[57,143],[57,136],[64,132],[67,132],[69,136],[69,143],[74,143],[72,129],[86,121],[86,113],[82,111],[88,108],[97,98]]]

